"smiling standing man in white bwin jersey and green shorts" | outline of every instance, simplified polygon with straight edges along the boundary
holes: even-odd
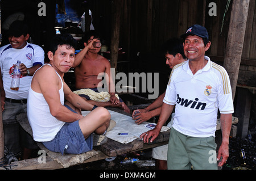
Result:
[[[172,69],[158,124],[141,138],[148,142],[152,137],[150,141],[154,141],[176,105],[168,147],[168,169],[191,169],[191,165],[193,169],[217,169],[217,160],[220,160],[218,166],[222,166],[229,156],[234,112],[229,76],[222,66],[205,56],[210,41],[204,27],[195,24],[181,37],[188,61]],[[218,109],[222,143],[217,155],[214,136]]]

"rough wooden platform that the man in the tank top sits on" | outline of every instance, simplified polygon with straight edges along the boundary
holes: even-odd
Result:
[[[116,110],[114,108],[110,108],[112,111],[117,111],[119,113],[123,113],[124,115],[129,115],[121,110]],[[129,115],[131,116],[131,115]],[[32,135],[32,129],[28,123],[26,113],[21,114],[17,117],[19,124]],[[108,139],[108,142],[104,145],[97,146],[93,148],[92,151],[88,151],[82,154],[64,154],[55,153],[49,151],[44,147],[43,144],[37,143],[39,148],[45,151],[46,156],[43,158],[42,156],[38,158],[26,159],[18,162],[11,163],[12,170],[42,170],[42,169],[63,169],[74,165],[79,165],[82,163],[94,162],[100,159],[105,159],[108,157],[113,157],[117,155],[122,155],[126,153],[130,153],[131,151],[139,151],[149,148],[154,148],[156,146],[162,146],[168,144],[168,139],[170,136],[170,130],[166,132],[162,132],[159,134],[159,137],[156,138],[151,144],[144,144],[143,140],[137,139],[129,144],[121,144],[117,141]],[[42,162],[42,159],[45,163]],[[4,168],[0,167],[0,170],[4,170]]]

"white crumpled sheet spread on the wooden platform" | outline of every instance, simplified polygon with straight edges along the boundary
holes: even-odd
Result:
[[[82,115],[85,116],[90,111],[82,111]],[[131,116],[123,115],[118,112],[110,111],[111,119],[114,120],[117,124],[115,127],[106,133],[106,137],[121,142],[122,144],[127,144],[132,142],[141,136],[142,133],[151,130],[150,128],[145,127],[148,122],[143,122],[138,125],[134,123],[134,120],[131,119]],[[161,132],[167,131],[169,127],[162,127]],[[118,133],[128,133],[128,135],[118,135]]]

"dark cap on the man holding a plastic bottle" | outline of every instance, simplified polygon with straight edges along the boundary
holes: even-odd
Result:
[[[8,33],[9,36],[20,37],[29,33],[29,29],[24,21],[15,20],[13,23],[11,23]]]

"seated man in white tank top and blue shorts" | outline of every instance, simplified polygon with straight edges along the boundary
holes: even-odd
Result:
[[[89,104],[69,89],[63,76],[75,61],[76,40],[71,35],[56,35],[48,52],[49,64],[38,69],[28,95],[28,121],[35,141],[60,153],[80,154],[92,150],[93,141],[102,144],[110,123],[110,113]],[[64,99],[68,106],[64,106]],[[86,116],[74,110],[92,111]],[[97,140],[92,140],[92,133]],[[100,140],[102,139],[102,140]]]

